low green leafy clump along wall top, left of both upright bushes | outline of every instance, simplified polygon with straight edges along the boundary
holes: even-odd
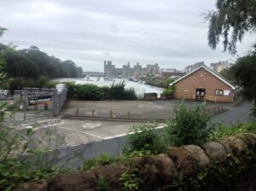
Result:
[[[82,170],[87,171],[92,169],[95,166],[100,166],[100,165],[111,165],[115,161],[116,159],[111,158],[107,153],[102,153],[100,157],[97,157],[95,159],[85,160],[82,166]]]

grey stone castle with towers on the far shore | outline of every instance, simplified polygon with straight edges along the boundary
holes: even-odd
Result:
[[[151,73],[153,75],[157,74],[160,70],[158,64],[147,65],[147,67],[142,67],[139,63],[133,68],[128,62],[126,65],[123,65],[123,68],[115,68],[115,65],[112,64],[112,61],[104,61],[104,76],[106,77],[141,77]]]

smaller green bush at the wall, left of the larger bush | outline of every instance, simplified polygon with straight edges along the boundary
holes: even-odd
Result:
[[[157,124],[137,124],[131,128],[128,135],[127,145],[124,153],[141,151],[143,154],[163,153],[166,144],[156,134],[154,128]]]

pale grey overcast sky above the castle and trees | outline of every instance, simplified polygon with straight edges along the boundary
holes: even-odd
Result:
[[[203,14],[215,0],[0,0],[0,43],[19,49],[32,45],[61,60],[72,60],[84,71],[103,71],[103,61],[116,67],[126,62],[159,63],[183,69],[236,60],[222,47],[207,46]],[[247,34],[238,43],[244,55],[253,43]]]

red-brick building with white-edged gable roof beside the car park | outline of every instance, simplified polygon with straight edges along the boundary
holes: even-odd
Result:
[[[204,101],[233,102],[236,87],[212,72],[208,67],[198,67],[178,78],[170,85],[176,86],[174,97]]]

